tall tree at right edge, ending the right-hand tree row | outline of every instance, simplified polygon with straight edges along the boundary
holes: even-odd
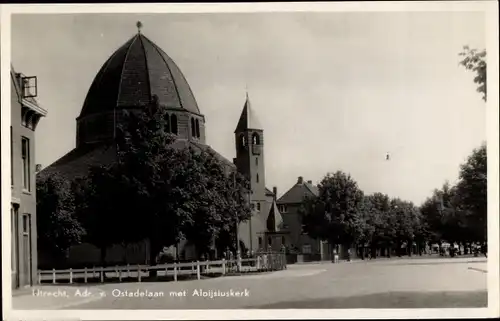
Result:
[[[474,241],[487,240],[488,176],[486,144],[475,149],[460,167],[456,204]]]

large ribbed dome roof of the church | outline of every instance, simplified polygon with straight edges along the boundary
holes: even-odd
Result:
[[[161,106],[200,114],[186,78],[174,61],[140,32],[111,55],[97,73],[79,118],[114,108]]]

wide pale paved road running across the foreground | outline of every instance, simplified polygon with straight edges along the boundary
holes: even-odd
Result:
[[[59,299],[58,308],[485,307],[486,265],[484,258],[301,264],[291,265],[286,271],[259,275],[200,281],[98,285],[87,288],[91,292],[88,297],[73,298],[73,301],[71,291],[74,290],[66,287],[68,298],[66,301]],[[51,291],[51,287],[45,288]],[[83,289],[85,288],[80,287],[81,291]],[[139,293],[142,293],[143,297],[123,296],[137,296]],[[236,293],[239,293],[239,296],[236,296]],[[217,296],[221,294],[226,296]],[[37,298],[32,297],[31,300]],[[20,297],[17,302],[14,298],[14,308],[28,307]],[[42,308],[40,304],[38,308]]]

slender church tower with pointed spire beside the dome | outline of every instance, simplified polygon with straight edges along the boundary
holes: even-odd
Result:
[[[250,222],[240,227],[240,239],[250,251],[262,246],[261,238],[266,229],[269,202],[266,200],[266,176],[264,166],[264,130],[252,110],[248,93],[238,125],[234,131],[238,172],[250,182],[253,215]]]

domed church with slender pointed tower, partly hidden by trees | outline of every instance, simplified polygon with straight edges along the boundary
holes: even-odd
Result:
[[[168,112],[169,131],[177,135],[175,147],[211,150],[228,170],[237,170],[250,181],[249,202],[253,215],[239,226],[243,247],[250,252],[269,246],[280,249],[284,239],[281,236],[276,239],[276,235],[282,218],[276,205],[276,189],[272,192],[266,188],[264,128],[252,110],[248,94],[242,101],[241,116],[235,120],[236,157],[231,162],[208,145],[207,120],[180,68],[165,51],[141,33],[140,28],[112,53],[92,82],[76,118],[76,147],[40,175],[58,173],[71,180],[86,175],[89,166],[113,162],[116,157],[115,129],[124,110],[140,110],[153,100]],[[106,260],[120,264],[125,251],[128,263],[148,263],[147,246],[147,242],[133,249],[117,245],[108,249]],[[187,247],[179,252],[181,259],[190,259],[192,255]],[[75,264],[97,263],[99,253],[89,244],[78,245],[71,249],[70,261]]]

